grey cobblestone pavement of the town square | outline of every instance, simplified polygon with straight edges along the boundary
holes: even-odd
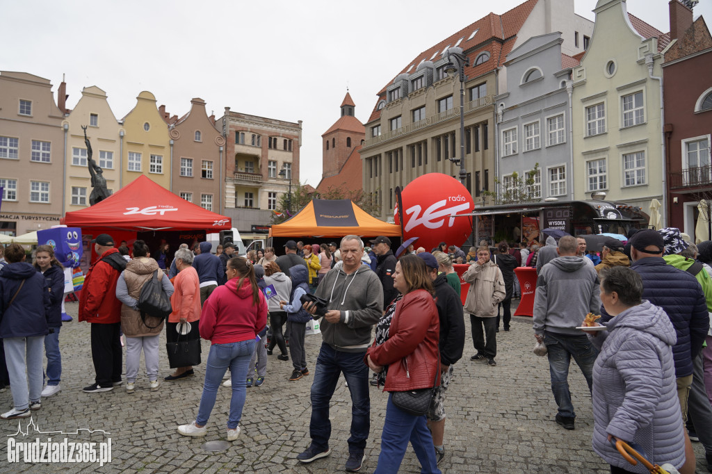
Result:
[[[67,311],[76,315],[76,303]],[[468,317],[466,317],[468,319]],[[473,354],[469,323],[463,359],[455,366],[455,377],[446,401],[446,458],[444,473],[608,473],[607,465],[591,448],[592,411],[584,377],[572,365],[569,381],[577,411],[575,431],[565,431],[554,421],[556,406],[550,391],[548,363],[531,349],[534,338],[528,317],[514,317],[511,332],[499,332],[497,367],[471,362]],[[42,431],[73,432],[92,428],[110,433],[112,460],[97,464],[63,464],[66,472],[103,473],[141,472],[214,473],[217,471],[257,473],[333,473],[343,471],[348,457],[346,440],[350,429],[350,396],[340,383],[332,401],[333,433],[328,458],[301,464],[295,456],[308,446],[312,375],[288,381],[290,362],[269,356],[268,374],[260,387],[247,389],[247,401],[241,421],[242,433],[227,451],[210,453],[201,446],[205,441],[224,440],[231,390],[221,387],[208,423],[205,438],[180,436],[178,424],[194,420],[199,404],[204,364],[196,376],[177,382],[164,382],[159,391],[149,391],[142,369],[136,391],[127,394],[124,387],[101,394],[85,394],[83,386],[93,383],[94,369],[90,355],[89,325],[65,323],[60,345],[63,357],[62,391],[43,399],[42,409],[33,412],[33,421]],[[164,347],[165,335],[161,336]],[[308,336],[308,367],[313,370],[321,344],[320,336]],[[209,343],[203,341],[203,362]],[[161,350],[160,376],[170,373],[165,351]],[[371,387],[371,436],[361,472],[375,470],[380,431],[385,416],[387,394]],[[0,394],[0,406],[11,407],[10,391]],[[7,408],[4,408],[7,409]],[[24,428],[29,418],[23,420]],[[6,461],[8,435],[17,431],[17,421],[1,421],[0,472],[58,472],[57,464],[9,464]],[[41,436],[30,435],[33,441]],[[64,436],[69,441],[105,441],[100,433]],[[22,436],[19,436],[21,441]],[[89,439],[90,438],[90,439]],[[704,453],[694,443],[698,472],[706,472]],[[699,462],[702,461],[702,462]],[[419,463],[412,451],[406,453],[401,472],[419,473]]]

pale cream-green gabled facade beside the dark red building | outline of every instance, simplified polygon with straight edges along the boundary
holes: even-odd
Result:
[[[649,213],[661,200],[662,55],[669,41],[629,15],[625,0],[599,0],[590,47],[573,70],[575,199],[603,191]]]

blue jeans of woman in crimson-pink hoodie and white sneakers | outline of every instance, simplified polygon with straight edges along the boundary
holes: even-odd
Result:
[[[208,362],[205,367],[205,382],[203,396],[195,423],[205,425],[210,418],[210,412],[215,405],[218,387],[222,383],[228,367],[232,380],[232,399],[230,400],[230,416],[227,421],[229,429],[235,429],[242,418],[242,407],[245,405],[247,369],[252,352],[255,350],[255,339],[248,339],[229,344],[213,344],[210,346]]]

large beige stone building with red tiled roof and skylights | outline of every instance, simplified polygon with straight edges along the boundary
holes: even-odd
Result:
[[[506,92],[506,56],[531,36],[553,31],[565,32],[565,51],[579,53],[592,23],[574,14],[570,0],[528,0],[420,53],[379,91],[360,153],[363,189],[380,206],[381,218],[393,218],[396,186],[429,172],[459,179],[459,164],[451,159],[460,156],[460,83],[444,71],[449,50],[470,63],[464,68],[466,187],[477,206],[491,204],[482,191],[494,189],[498,174],[494,97]],[[568,36],[580,38],[578,45]]]

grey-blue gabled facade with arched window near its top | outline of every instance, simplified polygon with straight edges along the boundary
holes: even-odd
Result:
[[[507,55],[507,92],[497,96],[500,193],[513,173],[539,164],[533,195],[572,199],[571,68],[561,33],[535,36]]]

